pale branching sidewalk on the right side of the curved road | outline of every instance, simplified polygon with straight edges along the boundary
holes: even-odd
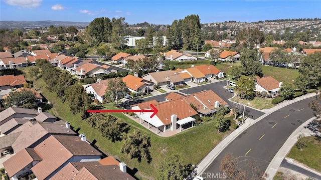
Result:
[[[277,153],[275,154],[275,156],[273,157],[272,161],[270,162],[270,164],[267,166],[267,169],[265,170],[265,173],[268,174],[268,178],[267,179],[273,179],[274,175],[276,174],[277,169],[279,168],[282,160],[285,158],[285,156],[287,155],[287,153],[291,150],[291,148],[293,147],[293,145],[296,143],[297,141],[297,137],[303,133],[304,136],[311,136],[311,135],[316,135],[317,133],[314,133],[313,131],[304,128],[305,126],[308,125],[309,122],[311,122],[313,118],[310,118],[309,120],[305,121],[304,123],[302,123],[298,128],[296,128],[293,133],[289,136],[289,138],[285,141],[285,143],[283,144],[283,146],[279,149],[279,151],[277,151]],[[319,134],[319,133],[318,133]],[[313,169],[304,167],[298,163],[295,163],[292,161],[290,161],[291,163],[306,169],[310,172],[313,172],[315,174],[319,174],[321,175],[319,172],[316,172]]]

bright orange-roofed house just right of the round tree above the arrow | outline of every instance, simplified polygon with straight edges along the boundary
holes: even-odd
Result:
[[[123,77],[122,81],[126,83],[126,86],[130,92],[135,93],[148,93],[149,90],[152,90],[154,86],[154,83],[130,74]]]

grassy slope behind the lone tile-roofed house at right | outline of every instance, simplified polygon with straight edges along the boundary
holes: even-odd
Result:
[[[262,73],[264,76],[272,76],[279,82],[283,83],[293,83],[292,80],[299,76],[299,71],[295,69],[278,68],[273,66],[262,66],[262,69]]]

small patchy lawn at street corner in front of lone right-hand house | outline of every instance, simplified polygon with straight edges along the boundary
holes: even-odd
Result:
[[[256,109],[269,109],[275,106],[275,104],[272,104],[273,98],[259,98],[259,97],[255,97],[253,100],[249,101],[246,99],[239,99],[238,98],[238,102],[241,104],[250,106],[250,107],[254,107]],[[232,101],[236,102],[236,97],[232,98]]]

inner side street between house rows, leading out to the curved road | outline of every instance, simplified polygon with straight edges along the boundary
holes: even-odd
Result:
[[[219,95],[224,101],[226,101],[231,108],[235,107],[236,103],[229,101],[228,99],[233,97],[233,93],[227,92],[227,89],[224,88],[224,86],[227,85],[227,81],[219,81],[216,83],[210,83],[210,84],[205,84],[202,86],[197,86],[194,88],[189,88],[189,89],[183,89],[180,90],[180,92],[183,92],[185,94],[192,94],[204,90],[212,90],[214,91],[217,95]],[[245,107],[245,116],[249,116],[252,119],[257,119],[258,117],[262,116],[264,113],[261,111],[257,111],[252,108]]]

